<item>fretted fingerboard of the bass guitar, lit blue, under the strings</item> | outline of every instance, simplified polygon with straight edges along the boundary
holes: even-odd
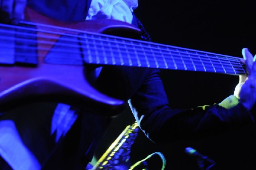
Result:
[[[87,36],[87,35],[85,35]],[[106,44],[104,46],[99,46]],[[90,43],[88,43],[90,42]],[[87,37],[86,63],[246,75],[240,58],[122,37]],[[94,57],[97,56],[97,57]]]

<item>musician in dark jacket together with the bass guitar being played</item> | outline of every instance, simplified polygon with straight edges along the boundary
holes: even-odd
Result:
[[[256,63],[247,48],[241,61],[140,40],[137,6],[137,0],[0,0],[0,167],[84,170],[127,103],[158,143],[254,122]],[[220,104],[172,109],[160,69],[241,79]]]

